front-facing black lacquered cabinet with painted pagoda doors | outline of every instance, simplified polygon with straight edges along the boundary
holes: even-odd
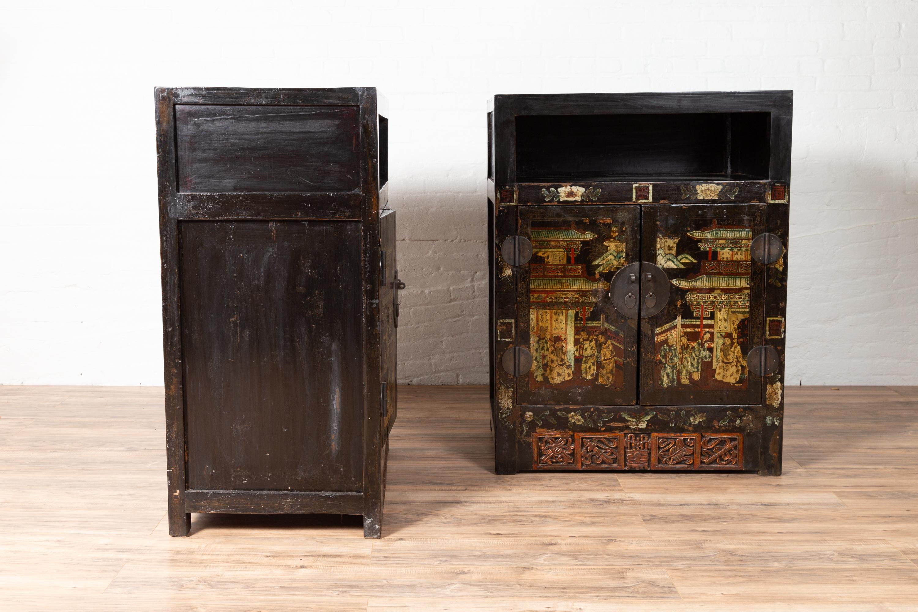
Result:
[[[494,97],[498,473],[781,472],[791,107]]]

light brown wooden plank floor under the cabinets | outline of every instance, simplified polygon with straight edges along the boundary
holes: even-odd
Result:
[[[0,386],[0,609],[918,610],[918,387],[790,387],[784,475],[493,473],[487,389],[402,387],[382,540],[166,529],[162,388]]]

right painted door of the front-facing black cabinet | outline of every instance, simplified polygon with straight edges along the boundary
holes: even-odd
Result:
[[[645,205],[642,258],[666,272],[666,307],[641,325],[641,404],[761,404],[746,367],[762,343],[764,266],[752,239],[766,205]]]

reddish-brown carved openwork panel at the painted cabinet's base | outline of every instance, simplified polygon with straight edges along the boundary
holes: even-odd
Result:
[[[536,470],[742,470],[741,433],[574,433],[537,429]]]

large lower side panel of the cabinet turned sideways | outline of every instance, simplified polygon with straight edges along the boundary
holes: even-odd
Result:
[[[360,224],[179,228],[189,487],[359,491]]]

